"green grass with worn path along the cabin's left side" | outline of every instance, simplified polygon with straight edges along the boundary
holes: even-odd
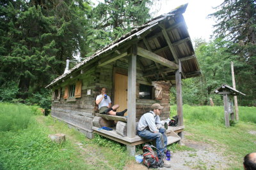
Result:
[[[37,107],[0,103],[0,108],[1,118],[15,119],[1,122],[0,169],[122,169],[133,159],[125,146],[99,136],[87,139],[63,122],[38,115]],[[55,133],[67,140],[52,143],[48,135]]]

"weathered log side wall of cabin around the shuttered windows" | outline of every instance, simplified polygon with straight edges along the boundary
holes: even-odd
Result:
[[[95,75],[96,67],[92,67],[83,74],[77,74],[74,78],[69,78],[61,85],[54,89],[61,88],[60,100],[52,101],[51,115],[73,127],[79,127],[87,138],[92,138],[92,120],[94,117],[95,106],[95,84],[97,76]],[[82,80],[81,98],[64,99],[65,86]],[[91,90],[91,95],[87,94],[87,90]]]

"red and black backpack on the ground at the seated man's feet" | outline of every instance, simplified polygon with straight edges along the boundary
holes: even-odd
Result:
[[[159,160],[157,157],[156,152],[152,148],[156,148],[153,145],[145,145],[143,146],[143,164],[145,166],[157,168],[157,167],[163,167],[163,155],[161,156],[161,159]],[[156,150],[158,150],[156,148]],[[158,150],[159,151],[159,150]],[[160,152],[160,151],[159,151]]]

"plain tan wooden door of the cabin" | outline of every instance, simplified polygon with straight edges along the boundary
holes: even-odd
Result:
[[[119,104],[117,111],[127,109],[127,84],[128,76],[124,74],[115,73],[115,104]],[[127,112],[125,113],[125,116]]]

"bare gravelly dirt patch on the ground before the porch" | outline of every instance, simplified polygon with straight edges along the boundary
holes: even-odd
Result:
[[[189,134],[185,134],[189,135]],[[170,163],[172,167],[160,167],[161,169],[226,169],[227,158],[223,157],[220,152],[216,152],[216,148],[204,142],[195,142],[188,139],[182,140],[182,145],[193,148],[193,151],[179,151],[172,154]],[[225,163],[223,163],[225,162]],[[141,164],[128,165],[124,169],[147,169]]]

